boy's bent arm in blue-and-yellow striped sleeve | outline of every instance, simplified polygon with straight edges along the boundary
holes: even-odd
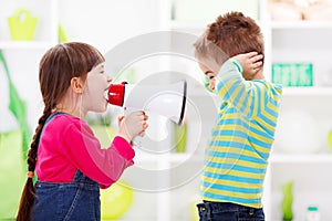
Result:
[[[262,86],[246,81],[242,71],[242,65],[235,59],[226,61],[216,76],[215,91],[224,101],[231,103],[236,109],[251,118],[257,116],[266,97]]]

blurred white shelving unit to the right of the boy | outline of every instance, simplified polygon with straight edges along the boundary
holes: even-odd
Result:
[[[268,1],[266,1],[268,2]],[[305,220],[307,208],[318,206],[321,220],[332,219],[329,211],[331,190],[326,183],[332,176],[323,172],[332,165],[332,152],[328,146],[328,133],[332,128],[331,21],[264,23],[269,30],[270,63],[313,64],[313,86],[284,87],[276,143],[270,158],[269,188],[266,188],[268,220],[282,220],[281,186],[294,181],[294,221]],[[308,144],[311,144],[309,146]]]

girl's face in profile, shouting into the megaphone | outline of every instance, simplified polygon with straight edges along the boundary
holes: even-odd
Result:
[[[83,92],[82,105],[86,112],[105,112],[107,101],[104,98],[104,92],[107,90],[111,80],[105,75],[104,63],[93,67],[86,76]]]

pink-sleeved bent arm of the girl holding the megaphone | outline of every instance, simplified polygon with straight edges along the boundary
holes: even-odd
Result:
[[[86,124],[71,124],[64,131],[64,146],[69,160],[85,176],[107,188],[120,179],[123,171],[134,164],[134,149],[116,136],[107,149]]]

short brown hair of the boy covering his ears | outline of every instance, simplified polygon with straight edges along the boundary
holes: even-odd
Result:
[[[227,12],[208,25],[194,43],[196,56],[214,57],[218,64],[241,53],[256,51],[263,55],[263,36],[259,25],[242,12]]]

